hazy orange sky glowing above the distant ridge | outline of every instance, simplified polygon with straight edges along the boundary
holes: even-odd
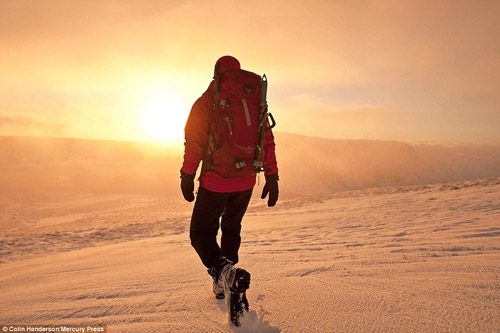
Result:
[[[231,54],[267,74],[276,130],[498,144],[499,17],[481,0],[2,0],[0,135],[149,140],[160,96],[179,140]]]

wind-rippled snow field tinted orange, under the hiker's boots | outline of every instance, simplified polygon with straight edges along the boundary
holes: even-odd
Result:
[[[79,173],[87,166],[61,158],[59,176],[83,180],[56,186],[46,162],[14,162],[0,163],[0,325],[95,324],[109,332],[500,330],[498,177],[328,194],[287,191],[282,179],[278,205],[269,208],[256,195],[243,220],[238,265],[252,274],[250,312],[235,328],[190,245],[192,203],[182,200],[177,173],[164,184],[145,180],[104,191],[138,165],[109,183],[112,173],[98,166],[105,176],[99,187],[97,178]],[[150,176],[156,181],[163,173]],[[165,192],[158,190],[163,185]]]

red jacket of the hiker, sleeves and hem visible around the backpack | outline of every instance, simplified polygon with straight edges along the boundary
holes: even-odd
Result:
[[[186,141],[184,143],[184,163],[181,171],[190,175],[196,173],[207,149],[210,109],[214,103],[213,85],[214,82],[212,81],[207,91],[196,100],[184,128]],[[264,170],[265,175],[278,173],[274,136],[270,130],[266,131]],[[202,171],[199,180],[201,186],[213,192],[245,191],[255,185],[255,176],[226,178],[215,171]]]

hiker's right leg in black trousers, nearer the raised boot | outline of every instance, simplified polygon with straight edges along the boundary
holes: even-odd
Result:
[[[241,243],[241,220],[245,215],[251,197],[252,189],[231,193],[226,204],[226,209],[222,214],[222,255],[234,264],[238,262],[238,250]]]

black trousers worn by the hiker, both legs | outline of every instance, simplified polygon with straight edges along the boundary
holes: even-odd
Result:
[[[238,262],[241,220],[250,202],[252,189],[241,192],[218,193],[199,187],[194,204],[189,237],[201,261],[212,268],[223,255]],[[219,218],[221,219],[221,246],[217,244]]]

